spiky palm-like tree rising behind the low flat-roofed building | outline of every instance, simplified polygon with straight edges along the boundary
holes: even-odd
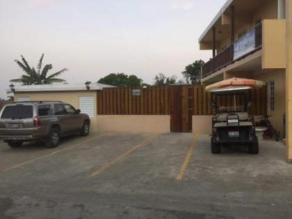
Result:
[[[54,74],[47,75],[49,70],[53,68],[53,65],[48,64],[44,65],[42,68],[42,59],[44,58],[44,54],[40,57],[40,61],[38,63],[38,67],[35,70],[34,67],[29,66],[29,63],[25,60],[23,56],[22,62],[20,60],[15,60],[17,65],[24,71],[25,74],[19,79],[12,79],[10,82],[22,83],[23,85],[30,85],[30,84],[51,84],[51,83],[61,83],[65,82],[64,79],[58,79],[58,76],[63,72],[67,71],[67,68],[63,68]]]

